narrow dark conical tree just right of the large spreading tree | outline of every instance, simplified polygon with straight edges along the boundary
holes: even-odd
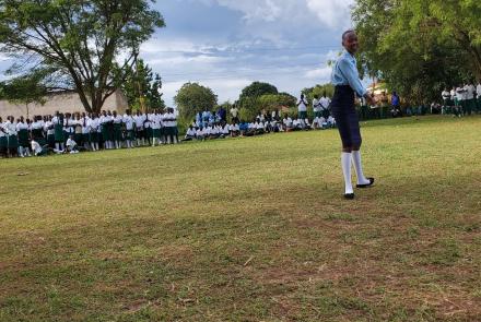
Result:
[[[131,109],[145,112],[151,109],[165,108],[161,93],[162,79],[152,72],[149,64],[139,59],[126,73],[126,81],[121,84],[121,90]]]

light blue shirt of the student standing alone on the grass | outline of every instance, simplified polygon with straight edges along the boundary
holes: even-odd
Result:
[[[364,97],[367,90],[364,88],[359,79],[357,64],[354,56],[347,50],[342,52],[332,69],[331,83],[335,86],[349,85],[357,94],[359,97]]]

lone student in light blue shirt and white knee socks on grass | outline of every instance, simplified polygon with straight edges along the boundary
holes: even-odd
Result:
[[[351,163],[357,175],[357,188],[367,188],[374,184],[374,178],[366,178],[361,163],[361,131],[359,117],[354,107],[354,98],[364,97],[367,103],[375,105],[375,99],[367,93],[361,83],[354,58],[359,48],[357,36],[354,31],[342,34],[344,52],[336,62],[331,81],[336,86],[331,102],[332,115],[342,140],[341,166],[344,176],[344,198],[354,199],[354,189],[351,181]]]

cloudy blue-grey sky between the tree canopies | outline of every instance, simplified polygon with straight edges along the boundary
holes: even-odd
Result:
[[[329,81],[328,59],[351,27],[352,0],[159,0],[167,26],[141,47],[163,79],[164,99],[199,82],[235,100],[253,81],[295,96]],[[0,57],[0,70],[9,61]]]

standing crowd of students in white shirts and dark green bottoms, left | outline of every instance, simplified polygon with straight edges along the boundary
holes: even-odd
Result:
[[[25,157],[50,153],[79,153],[144,145],[178,143],[177,117],[173,108],[151,114],[127,110],[97,114],[60,114],[33,119],[0,117],[0,156]]]

